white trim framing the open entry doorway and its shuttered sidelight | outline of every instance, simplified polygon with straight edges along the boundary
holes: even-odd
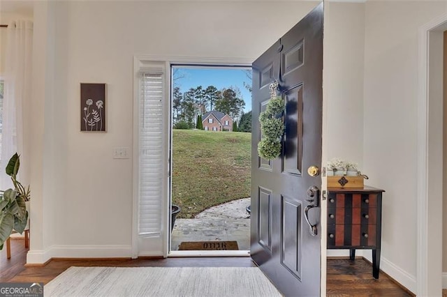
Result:
[[[223,256],[223,253],[213,252],[204,253],[201,252],[187,252],[182,254],[172,254],[170,253],[170,215],[168,215],[168,210],[170,209],[170,172],[172,171],[172,162],[170,162],[171,153],[170,146],[172,144],[172,128],[170,127],[172,123],[172,105],[171,105],[171,74],[170,74],[170,66],[177,65],[197,65],[197,66],[245,66],[251,67],[251,63],[255,58],[229,58],[229,57],[193,57],[193,56],[152,56],[152,55],[135,55],[133,57],[133,185],[132,185],[132,230],[131,230],[131,251],[132,258],[136,259],[139,256],[163,256],[163,257],[197,257],[197,256],[208,256],[208,257],[217,257]],[[163,192],[166,195],[161,197],[161,206],[163,214],[161,216],[161,234],[159,237],[154,238],[154,251],[151,251],[150,254],[140,254],[138,251],[138,192],[139,192],[139,172],[140,172],[140,163],[139,163],[139,128],[140,128],[140,118],[137,116],[139,114],[140,109],[140,79],[139,72],[140,68],[144,68],[145,65],[153,63],[153,62],[163,62],[166,65],[166,85],[168,85],[168,90],[165,92],[165,100],[168,102],[168,107],[166,108],[166,119],[168,119],[169,124],[166,125],[166,133],[168,133],[168,144],[166,147],[166,151],[168,151],[168,158],[166,160],[165,171],[163,173],[164,176],[168,176],[168,178],[163,178]],[[159,250],[156,250],[159,249]],[[228,255],[228,253],[227,253]],[[243,254],[247,256],[247,254]],[[232,254],[232,256],[237,256],[237,254]]]

